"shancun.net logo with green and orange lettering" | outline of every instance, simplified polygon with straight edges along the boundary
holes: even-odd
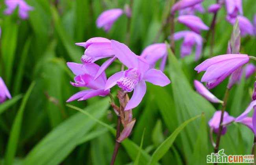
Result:
[[[226,155],[224,149],[206,156],[207,163],[254,163],[254,155]]]

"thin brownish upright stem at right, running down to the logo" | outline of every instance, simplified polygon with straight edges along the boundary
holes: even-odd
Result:
[[[223,128],[222,122],[223,122],[224,112],[226,110],[226,104],[227,104],[227,101],[228,101],[228,94],[229,94],[229,89],[226,88],[226,92],[225,92],[225,95],[224,95],[224,98],[223,98],[224,103],[223,103],[223,106],[221,108],[221,121],[219,123],[219,132],[217,134],[217,140],[216,140],[216,146],[214,147],[214,153],[217,153],[218,150],[219,150],[219,143],[221,141],[221,131],[222,131],[222,128]]]

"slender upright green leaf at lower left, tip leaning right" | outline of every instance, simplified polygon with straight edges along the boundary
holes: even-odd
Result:
[[[19,136],[20,136],[20,129],[22,125],[22,119],[23,119],[23,113],[25,110],[26,103],[28,101],[28,98],[30,96],[30,93],[34,87],[35,83],[31,83],[30,87],[28,88],[28,91],[26,92],[24,98],[22,99],[20,108],[17,112],[17,115],[14,119],[12,128],[11,128],[11,134],[8,140],[7,144],[7,150],[6,150],[6,156],[5,156],[5,164],[6,165],[12,165],[13,159],[17,150],[17,145],[19,142]]]

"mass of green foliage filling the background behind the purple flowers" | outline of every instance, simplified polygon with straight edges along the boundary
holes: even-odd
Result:
[[[134,0],[130,26],[122,15],[106,33],[96,27],[96,18],[107,9],[121,8],[128,0],[26,0],[34,7],[29,18],[22,20],[15,11],[4,15],[4,0],[0,0],[0,76],[4,79],[13,99],[0,105],[0,164],[6,165],[107,165],[114,148],[115,136],[106,127],[88,116],[66,106],[66,100],[80,89],[70,85],[74,75],[66,62],[80,62],[84,49],[76,42],[91,37],[106,37],[125,42],[130,28],[129,48],[136,54],[154,42],[170,11],[170,0]],[[213,14],[207,7],[215,0],[205,0],[205,13],[197,13],[210,26]],[[255,0],[243,0],[244,15],[252,22]],[[213,55],[226,53],[232,25],[226,22],[222,7],[217,15]],[[128,28],[127,28],[128,27]],[[175,24],[175,32],[186,30]],[[202,37],[207,31],[202,32]],[[169,26],[165,27],[158,42],[168,41]],[[256,55],[255,37],[241,39],[241,53]],[[210,144],[208,120],[218,104],[211,104],[193,89],[193,80],[202,74],[195,66],[210,57],[210,43],[204,56],[194,61],[194,54],[180,59],[180,44],[175,42],[176,59],[170,59],[165,74],[172,83],[161,88],[147,84],[143,102],[133,110],[136,123],[129,140],[122,143],[116,165],[133,164],[136,159],[143,130],[143,152],[139,164],[147,164],[154,150],[180,124],[204,112],[178,135],[172,147],[159,161],[160,164],[206,164],[206,155],[213,152]],[[102,64],[102,61],[98,61]],[[121,69],[114,62],[106,71],[109,77]],[[211,90],[223,98],[228,79]],[[251,100],[254,76],[234,86],[228,100],[227,112],[238,116]],[[116,94],[117,87],[112,90]],[[95,97],[87,101],[73,101],[96,119],[115,126],[117,117],[109,106],[108,97]],[[214,136],[215,138],[215,136]],[[228,127],[220,148],[226,154],[250,154],[253,134],[239,124]]]

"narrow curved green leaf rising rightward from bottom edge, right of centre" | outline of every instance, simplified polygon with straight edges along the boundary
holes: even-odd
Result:
[[[174,130],[174,132],[165,141],[163,141],[163,143],[161,143],[161,145],[158,148],[156,148],[155,152],[152,154],[152,157],[148,165],[156,164],[164,156],[164,154],[169,150],[169,148],[171,148],[174,140],[176,139],[178,134],[183,130],[183,128],[186,127],[186,125],[188,125],[191,121],[194,121],[200,116],[201,115],[195,116],[185,121],[182,125],[176,128],[176,130]]]

